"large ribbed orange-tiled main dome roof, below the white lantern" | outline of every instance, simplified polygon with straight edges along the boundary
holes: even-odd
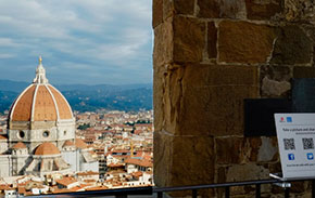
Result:
[[[58,107],[58,108],[56,108]],[[32,109],[34,114],[32,114]],[[13,103],[9,119],[12,121],[56,121],[72,119],[72,109],[65,97],[50,84],[30,84]]]

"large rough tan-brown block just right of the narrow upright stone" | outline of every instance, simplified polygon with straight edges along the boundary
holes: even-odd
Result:
[[[273,27],[224,21],[219,23],[218,60],[223,63],[266,63],[275,39]]]

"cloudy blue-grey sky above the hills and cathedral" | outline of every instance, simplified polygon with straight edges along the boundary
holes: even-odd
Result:
[[[151,0],[1,0],[0,79],[152,82]]]

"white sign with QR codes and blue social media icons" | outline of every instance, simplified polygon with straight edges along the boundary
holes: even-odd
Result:
[[[275,114],[282,177],[315,177],[315,114]]]

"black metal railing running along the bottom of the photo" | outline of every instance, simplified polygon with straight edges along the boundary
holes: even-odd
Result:
[[[158,198],[163,198],[164,193],[169,192],[181,192],[191,190],[191,197],[197,198],[198,193],[201,189],[211,188],[224,188],[225,197],[230,197],[230,188],[236,186],[255,186],[255,197],[261,198],[261,186],[266,184],[275,184],[284,188],[285,198],[290,197],[291,182],[305,182],[312,181],[312,198],[315,198],[315,180],[292,180],[292,181],[279,181],[279,180],[256,180],[256,181],[244,181],[244,182],[230,182],[222,184],[206,184],[206,185],[194,185],[194,186],[177,186],[177,187],[133,187],[133,188],[116,188],[116,189],[105,189],[105,190],[93,190],[93,192],[76,192],[76,193],[64,193],[64,194],[53,194],[53,195],[41,195],[38,197],[106,197],[113,196],[116,198],[127,198],[128,195],[148,195],[153,196],[156,194]]]

